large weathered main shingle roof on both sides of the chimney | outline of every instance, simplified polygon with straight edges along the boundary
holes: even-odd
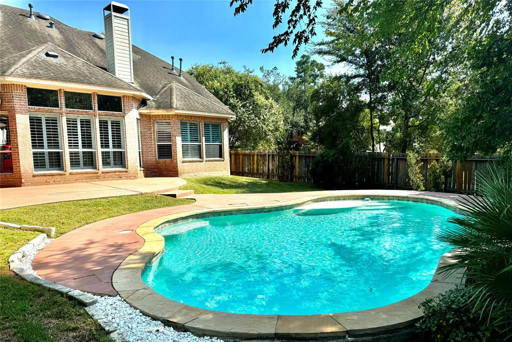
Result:
[[[29,11],[24,9],[0,5],[0,22],[2,23],[0,25],[0,45],[2,46],[2,49],[0,49],[0,75],[6,75],[5,72],[11,70],[24,57],[29,58],[30,63],[43,63],[44,65],[39,64],[42,68],[48,67],[49,63],[53,62],[42,59],[37,53],[33,58],[30,58],[35,50],[46,43],[52,43],[55,47],[58,47],[62,54],[66,55],[66,60],[69,63],[78,63],[88,73],[93,73],[92,66],[100,69],[99,71],[106,70],[105,40],[94,38],[93,32],[69,27],[53,17],[51,20],[55,21],[55,29],[50,29],[47,20],[39,18],[29,20],[28,14]],[[182,77],[179,77],[178,68],[172,71],[172,65],[136,47],[136,45],[132,45],[132,51],[136,55],[133,59],[133,87],[142,89],[154,98],[154,100],[147,102],[148,108],[174,108],[169,107],[170,99],[166,98],[165,92],[168,92],[170,83],[175,83],[178,85],[175,101],[178,107],[175,109],[233,114],[226,105],[208,92],[194,77],[185,72],[182,72]],[[84,63],[79,63],[80,59],[82,62],[88,63],[90,67],[86,67]],[[38,71],[34,68],[20,69],[22,69],[19,71],[20,73],[23,69],[27,69],[24,71],[24,75],[26,75],[24,77],[27,78],[50,79],[49,77],[53,74],[51,70],[43,73],[42,70]],[[63,82],[77,82],[77,78],[81,76],[76,74],[76,72],[60,72],[53,77],[58,77],[58,80]],[[113,79],[116,79],[125,85],[129,85],[115,76],[86,76],[85,78],[87,80],[82,79],[82,82],[86,84],[113,86],[109,82],[114,82]],[[51,80],[55,79],[51,78]],[[164,93],[160,94],[161,92]],[[167,94],[170,96],[170,93]]]

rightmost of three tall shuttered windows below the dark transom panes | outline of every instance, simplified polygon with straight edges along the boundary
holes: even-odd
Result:
[[[99,141],[101,165],[103,168],[125,168],[123,119],[101,118],[99,120]]]

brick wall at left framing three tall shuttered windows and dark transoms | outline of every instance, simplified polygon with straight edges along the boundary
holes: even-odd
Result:
[[[76,181],[87,181],[97,179],[116,178],[137,178],[139,174],[138,150],[137,150],[137,126],[138,117],[137,105],[139,100],[132,96],[123,96],[123,112],[110,113],[98,111],[96,93],[93,93],[93,110],[66,109],[64,90],[59,89],[60,108],[29,107],[27,104],[27,91],[25,85],[2,84],[0,85],[0,96],[2,105],[0,110],[7,111],[9,126],[11,129],[11,142],[13,154],[13,174],[0,175],[0,185],[29,186],[51,183],[71,183]],[[32,162],[32,147],[30,141],[29,112],[51,112],[60,116],[61,139],[63,148],[64,171],[34,172]],[[87,115],[94,117],[95,138],[96,138],[96,161],[97,170],[80,171],[71,170],[69,153],[67,150],[67,125],[66,115]],[[109,170],[101,166],[101,153],[99,142],[98,124],[102,116],[123,117],[124,140],[126,147],[126,169]]]

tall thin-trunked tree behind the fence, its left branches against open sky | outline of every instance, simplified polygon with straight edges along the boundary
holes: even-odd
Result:
[[[381,74],[389,60],[390,39],[374,39],[374,30],[359,14],[352,11],[350,6],[336,0],[328,11],[327,21],[322,23],[327,38],[315,44],[314,52],[327,57],[333,64],[345,64],[348,71],[343,76],[357,81],[361,96],[368,97],[370,136],[374,152],[375,112],[383,119],[383,106],[387,98],[386,84],[381,81]],[[377,123],[380,122],[381,120],[377,120]]]

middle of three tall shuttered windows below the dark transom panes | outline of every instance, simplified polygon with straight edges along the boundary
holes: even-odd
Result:
[[[93,118],[69,116],[66,126],[71,169],[96,169]]]

